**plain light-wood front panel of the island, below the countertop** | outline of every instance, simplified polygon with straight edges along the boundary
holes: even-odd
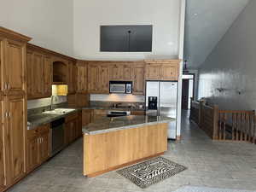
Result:
[[[167,150],[167,124],[84,134],[84,175],[96,175]]]

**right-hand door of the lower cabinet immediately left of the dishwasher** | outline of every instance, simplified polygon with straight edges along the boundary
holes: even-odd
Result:
[[[48,131],[41,133],[39,141],[39,162],[43,163],[49,158],[49,128]]]

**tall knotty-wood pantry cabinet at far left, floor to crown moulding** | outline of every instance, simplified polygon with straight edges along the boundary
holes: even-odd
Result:
[[[0,190],[26,175],[26,43],[0,26]]]

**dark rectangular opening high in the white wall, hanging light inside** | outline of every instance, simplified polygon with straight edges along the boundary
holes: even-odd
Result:
[[[151,52],[152,25],[101,26],[101,51]]]

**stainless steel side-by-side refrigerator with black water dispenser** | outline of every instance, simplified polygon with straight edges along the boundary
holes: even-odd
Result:
[[[177,119],[177,82],[146,82],[146,113]],[[176,139],[177,120],[168,125],[168,139]]]

